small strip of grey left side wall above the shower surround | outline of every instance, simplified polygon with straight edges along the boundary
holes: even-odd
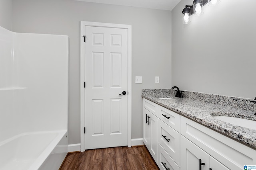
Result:
[[[12,29],[12,1],[0,0],[0,26]]]

